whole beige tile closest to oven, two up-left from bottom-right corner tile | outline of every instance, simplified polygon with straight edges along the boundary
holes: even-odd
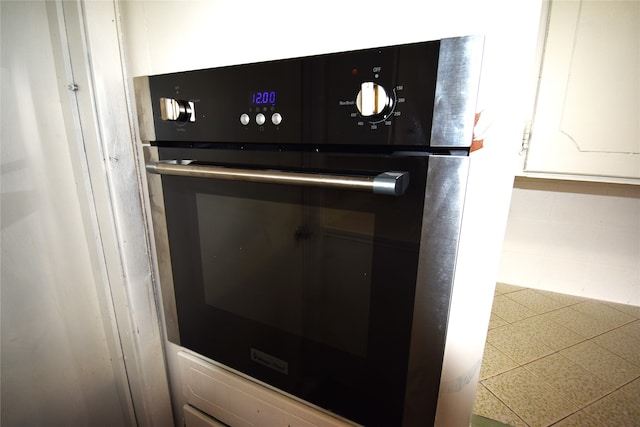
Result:
[[[552,348],[513,325],[490,330],[487,341],[521,365],[553,353]]]

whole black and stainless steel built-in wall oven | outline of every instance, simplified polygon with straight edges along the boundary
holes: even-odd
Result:
[[[137,78],[169,340],[359,424],[433,424],[481,56]]]

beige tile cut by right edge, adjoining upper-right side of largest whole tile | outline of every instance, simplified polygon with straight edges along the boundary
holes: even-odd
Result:
[[[560,354],[616,387],[640,377],[640,367],[589,341],[562,350]]]

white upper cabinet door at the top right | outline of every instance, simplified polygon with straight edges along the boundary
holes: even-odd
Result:
[[[525,174],[638,183],[640,2],[548,7]]]

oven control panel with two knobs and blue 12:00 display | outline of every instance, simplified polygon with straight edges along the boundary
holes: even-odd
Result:
[[[447,129],[473,123],[478,82],[468,80],[479,73],[467,53],[477,39],[136,78],[141,127],[152,143],[468,147]]]

